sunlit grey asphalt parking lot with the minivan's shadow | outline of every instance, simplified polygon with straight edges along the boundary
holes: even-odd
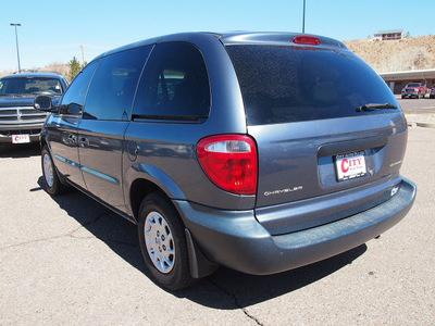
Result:
[[[418,198],[363,246],[274,276],[220,268],[169,292],[135,225],[77,191],[51,198],[37,146],[0,149],[0,325],[434,325],[435,129],[411,127]]]

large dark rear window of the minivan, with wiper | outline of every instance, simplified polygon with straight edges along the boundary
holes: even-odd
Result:
[[[351,53],[328,49],[227,46],[249,125],[393,112],[357,112],[397,100],[385,82]]]

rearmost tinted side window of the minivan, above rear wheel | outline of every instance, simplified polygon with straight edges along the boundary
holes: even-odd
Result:
[[[207,117],[210,86],[199,50],[187,42],[157,45],[145,67],[133,114],[145,118]]]

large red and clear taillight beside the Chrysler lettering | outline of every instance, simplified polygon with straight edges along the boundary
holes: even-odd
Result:
[[[237,195],[257,193],[257,145],[251,137],[207,137],[198,142],[197,154],[206,175],[217,187]]]

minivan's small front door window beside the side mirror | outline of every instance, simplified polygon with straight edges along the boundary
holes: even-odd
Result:
[[[98,62],[89,63],[73,80],[62,99],[61,113],[82,113],[86,91]]]

